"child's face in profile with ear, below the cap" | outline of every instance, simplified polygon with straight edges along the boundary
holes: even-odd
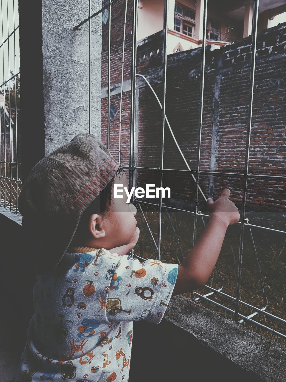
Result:
[[[123,184],[123,187],[128,188],[126,174],[116,175],[114,183]],[[92,246],[111,249],[129,244],[136,231],[136,213],[136,207],[127,203],[126,193],[123,192],[123,198],[114,198],[114,189],[112,189],[111,205],[106,215],[104,217],[96,214],[91,216]]]

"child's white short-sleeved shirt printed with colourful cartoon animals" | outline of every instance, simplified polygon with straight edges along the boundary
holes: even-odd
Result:
[[[128,380],[133,321],[159,323],[178,265],[106,249],[66,253],[38,275],[15,382]]]

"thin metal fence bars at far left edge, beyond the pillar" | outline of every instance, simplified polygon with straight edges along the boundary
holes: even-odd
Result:
[[[18,0],[17,4],[18,4]],[[8,0],[6,0],[6,11],[7,11],[7,31],[8,37],[4,36],[4,28],[3,28],[3,3],[4,0],[1,0],[1,23],[2,23],[2,44],[0,45],[0,49],[2,49],[2,59],[3,59],[3,83],[0,85],[0,89],[3,89],[3,97],[4,97],[4,126],[1,126],[1,118],[0,118],[0,206],[5,209],[10,209],[10,212],[16,213],[16,215],[21,216],[18,210],[18,194],[21,191],[22,181],[18,176],[18,167],[21,163],[18,162],[18,130],[17,130],[17,78],[20,74],[16,73],[16,31],[19,28],[15,26],[15,0],[13,0],[13,31],[9,34],[9,12],[11,12],[10,7],[8,6]],[[11,2],[10,2],[11,5]],[[6,37],[6,38],[5,38]],[[5,39],[4,39],[5,38]],[[14,39],[14,75],[10,77],[10,39]],[[4,57],[4,47],[7,44],[8,48],[8,60]],[[5,67],[8,66],[8,78],[5,79]],[[10,81],[14,80],[15,86],[15,122],[11,120],[11,89],[10,89]],[[5,96],[5,86],[8,86],[8,97],[9,97],[9,107],[6,110],[6,96]],[[6,114],[8,114],[9,125],[6,126]],[[16,160],[12,158],[11,151],[13,150],[13,127],[15,128],[15,136],[16,136]],[[6,127],[10,130],[10,142],[6,140]],[[4,152],[2,153],[2,130],[4,132]],[[6,155],[6,147],[10,147],[10,161],[7,160]],[[2,160],[3,159],[3,160]],[[4,166],[3,166],[4,164]],[[10,176],[7,171],[7,166],[10,165]],[[16,176],[12,176],[12,165],[16,166]],[[2,175],[2,170],[4,168],[4,175]],[[14,201],[14,202],[13,202]]]

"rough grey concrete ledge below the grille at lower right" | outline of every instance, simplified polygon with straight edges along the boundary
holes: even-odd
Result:
[[[164,318],[262,379],[286,381],[285,347],[183,296],[171,298]]]

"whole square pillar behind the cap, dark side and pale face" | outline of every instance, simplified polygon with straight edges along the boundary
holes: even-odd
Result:
[[[92,13],[101,6],[93,0]],[[31,7],[19,2],[22,180],[44,155],[88,133],[88,23],[73,29],[88,17],[88,0],[33,0]],[[101,14],[91,24],[91,132],[99,135]]]

